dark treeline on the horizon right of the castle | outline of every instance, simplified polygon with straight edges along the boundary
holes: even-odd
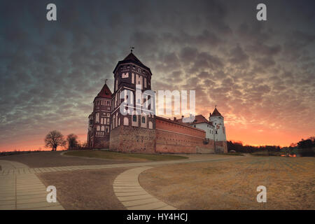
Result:
[[[301,154],[304,156],[314,155],[315,137],[301,139],[297,143],[290,144],[288,147],[281,146],[244,146],[240,141],[228,141],[228,151],[237,153],[255,153],[261,151],[267,152],[283,152],[290,154]]]

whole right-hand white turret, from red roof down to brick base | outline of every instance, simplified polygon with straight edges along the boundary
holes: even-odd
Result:
[[[214,141],[216,143],[216,150],[228,153],[226,144],[226,134],[224,126],[224,118],[218,109],[214,109],[214,112],[209,114],[209,121],[214,125]]]

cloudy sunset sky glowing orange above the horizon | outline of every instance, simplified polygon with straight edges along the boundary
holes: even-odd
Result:
[[[57,21],[46,19],[55,3]],[[265,3],[267,21],[256,19]],[[196,90],[227,139],[288,146],[315,135],[314,1],[3,1],[0,151],[45,150],[51,130],[86,141],[87,116],[130,46],[153,90]]]

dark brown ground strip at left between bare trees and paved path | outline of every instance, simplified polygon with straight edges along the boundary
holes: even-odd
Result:
[[[8,155],[3,156],[0,160],[10,160],[22,162],[23,164],[31,167],[64,167],[76,165],[104,165],[114,163],[129,163],[137,162],[135,160],[106,160],[99,158],[80,158],[60,155],[61,151],[57,152],[41,152],[29,153],[21,155]],[[138,161],[141,162],[141,161]]]

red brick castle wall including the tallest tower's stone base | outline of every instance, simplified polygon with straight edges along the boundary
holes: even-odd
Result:
[[[109,150],[125,153],[220,153],[224,151],[222,141],[207,140],[206,132],[156,117],[156,129],[121,125],[111,130]]]

